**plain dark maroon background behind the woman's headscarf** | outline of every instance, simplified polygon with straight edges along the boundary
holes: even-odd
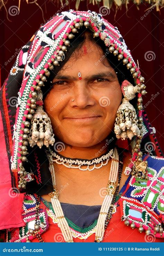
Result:
[[[53,16],[57,11],[75,9],[75,1],[70,6],[60,9],[60,4],[52,1],[37,1],[44,11],[45,21]],[[99,12],[97,5],[88,4],[88,1],[80,2],[79,10],[91,10]],[[33,36],[40,24],[44,23],[42,11],[36,4],[27,4],[21,1],[20,12],[11,16],[9,8],[17,6],[18,1],[10,1],[6,5],[8,11],[8,21],[4,8],[0,12],[1,42],[0,42],[0,71],[1,85],[7,78],[18,53],[18,50],[24,46]],[[143,105],[151,125],[156,128],[156,137],[162,150],[164,149],[164,110],[163,110],[163,58],[164,58],[164,29],[163,29],[163,13],[156,11],[156,8],[145,11],[150,5],[142,3],[139,10],[134,3],[126,7],[122,6],[118,10],[116,17],[116,7],[113,4],[108,15],[103,15],[112,25],[117,26],[122,34],[135,62],[139,62],[142,75],[145,77],[145,85],[147,86],[147,94],[144,96]]]

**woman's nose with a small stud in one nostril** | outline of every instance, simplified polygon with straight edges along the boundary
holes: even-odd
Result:
[[[71,100],[72,107],[77,106],[84,109],[86,106],[93,106],[95,104],[93,92],[85,82],[80,81],[73,87],[71,98],[74,99],[74,101]]]

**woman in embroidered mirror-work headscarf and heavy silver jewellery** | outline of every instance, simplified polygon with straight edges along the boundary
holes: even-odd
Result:
[[[143,83],[95,12],[57,14],[22,47],[1,89],[3,241],[162,241],[163,158]]]

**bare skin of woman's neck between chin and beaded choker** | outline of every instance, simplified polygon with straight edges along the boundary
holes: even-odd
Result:
[[[55,143],[61,142],[58,138],[55,138]],[[81,158],[81,159],[93,159],[98,158],[103,154],[108,153],[111,149],[114,148],[116,140],[112,136],[108,136],[100,143],[90,146],[90,147],[76,147],[64,143],[64,150],[55,151],[57,154],[62,155],[63,157],[68,158]]]

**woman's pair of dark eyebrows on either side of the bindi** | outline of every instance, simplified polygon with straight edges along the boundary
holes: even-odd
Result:
[[[101,72],[101,73],[98,73],[98,74],[89,75],[89,76],[85,77],[84,80],[93,80],[93,79],[96,79],[96,78],[108,78],[108,77],[116,78],[117,75],[114,75],[112,72],[109,72],[109,71],[108,72]],[[57,74],[56,77],[53,80],[56,80],[56,79],[78,80],[78,75],[76,77],[72,77],[70,75]]]

